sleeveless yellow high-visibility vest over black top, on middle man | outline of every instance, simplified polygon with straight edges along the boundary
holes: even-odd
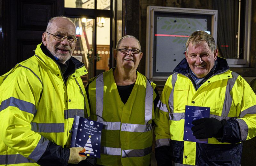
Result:
[[[148,166],[156,84],[137,72],[135,85],[125,104],[119,96],[113,69],[94,77],[87,86],[91,119],[104,124],[97,164]]]

